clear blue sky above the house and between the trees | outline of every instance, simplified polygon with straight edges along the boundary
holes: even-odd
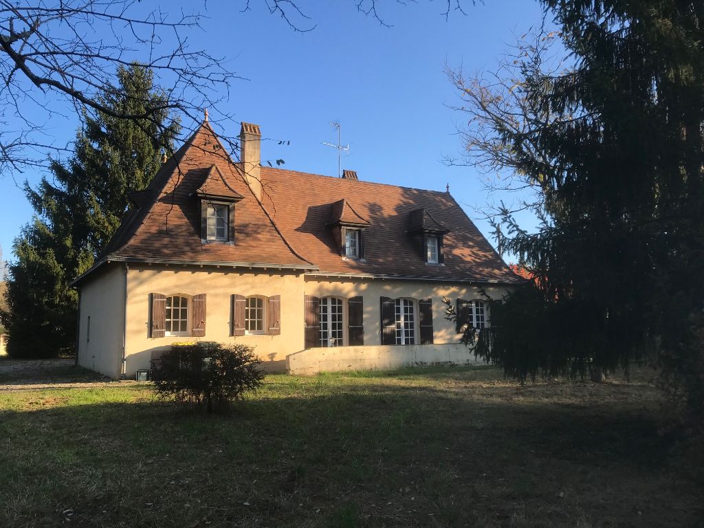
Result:
[[[180,4],[186,11],[193,6],[172,1],[168,9],[180,10]],[[467,15],[451,13],[448,20],[444,1],[406,6],[387,1],[380,4],[382,16],[392,27],[383,27],[358,13],[353,0],[303,0],[316,25],[305,33],[270,15],[263,2],[251,4],[241,13],[240,2],[209,1],[200,10],[203,30],[189,40],[194,49],[226,57],[230,70],[246,77],[232,84],[225,111],[260,125],[263,137],[290,140],[289,146],[264,142],[263,158],[282,158],[291,170],[337,175],[337,153],[322,142],[337,141],[329,122],[338,120],[342,142],[351,146],[343,168],[356,170],[362,180],[407,187],[444,190],[449,184],[477,220],[472,206],[487,201],[482,175],[442,163],[444,155],[460,152],[455,130],[465,119],[448,108],[458,98],[444,68],[461,63],[465,71],[491,69],[516,34],[540,23],[537,1],[486,0],[474,7],[466,2]],[[77,125],[69,114],[47,133],[65,142]],[[239,132],[234,122],[222,126],[229,127],[228,134]],[[37,170],[0,180],[4,258],[11,258],[13,239],[32,218],[15,182],[36,184],[41,176]],[[477,227],[489,237],[486,223],[477,221]]]

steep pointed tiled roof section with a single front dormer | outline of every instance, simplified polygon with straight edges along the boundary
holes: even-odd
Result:
[[[149,203],[127,215],[104,255],[310,267],[277,232],[225,152],[204,122],[157,172],[149,185]],[[199,199],[194,195],[204,182],[217,194],[244,196],[235,210],[235,244],[201,241]]]

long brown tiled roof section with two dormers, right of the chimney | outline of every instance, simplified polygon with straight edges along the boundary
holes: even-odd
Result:
[[[265,208],[291,246],[321,272],[522,282],[447,192],[262,168]],[[348,198],[370,222],[365,261],[343,259],[328,227],[332,203]],[[444,235],[444,265],[426,264],[410,237],[409,215],[425,209]]]

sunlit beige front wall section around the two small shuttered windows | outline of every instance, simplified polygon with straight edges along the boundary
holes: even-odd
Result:
[[[149,337],[149,294],[166,296],[206,294],[206,335]],[[230,337],[230,296],[281,296],[281,334]],[[294,272],[253,272],[218,268],[130,266],[127,274],[127,363],[131,377],[137,369],[149,368],[172,343],[218,341],[254,346],[271,371],[286,368],[286,355],[303,348],[303,276]]]

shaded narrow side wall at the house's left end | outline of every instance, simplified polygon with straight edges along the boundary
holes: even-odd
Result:
[[[78,364],[106,376],[120,377],[122,329],[125,327],[125,265],[104,266],[81,284],[80,291]]]

